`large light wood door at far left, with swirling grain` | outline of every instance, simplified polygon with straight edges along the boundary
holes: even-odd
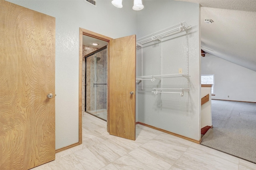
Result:
[[[54,159],[55,18],[0,0],[0,169]]]

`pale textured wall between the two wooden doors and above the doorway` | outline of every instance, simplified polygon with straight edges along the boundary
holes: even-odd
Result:
[[[111,0],[9,1],[56,18],[56,149],[77,143],[79,27],[111,38],[136,34],[137,12],[131,1],[121,9]]]

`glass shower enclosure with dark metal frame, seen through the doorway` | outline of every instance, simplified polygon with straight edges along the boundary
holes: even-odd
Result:
[[[85,111],[107,120],[107,47],[85,56]]]

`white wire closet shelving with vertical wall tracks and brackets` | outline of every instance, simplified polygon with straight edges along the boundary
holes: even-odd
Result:
[[[189,74],[188,74],[188,29],[190,29],[191,26],[188,26],[185,21],[182,21],[180,23],[177,23],[175,25],[172,25],[170,27],[164,28],[160,31],[156,31],[154,33],[151,33],[149,35],[146,35],[144,37],[141,37],[136,40],[136,46],[141,47],[145,43],[149,43],[155,40],[159,40],[162,42],[162,38],[168,37],[170,35],[174,35],[176,33],[180,33],[182,31],[186,31],[186,46],[187,46],[187,73],[181,73],[181,74],[162,74],[162,49],[160,54],[161,59],[161,67],[160,67],[160,75],[150,75],[150,76],[143,76],[143,73],[141,73],[141,76],[136,76],[136,82],[141,82],[142,80],[151,80],[151,82],[154,82],[156,79],[160,80],[160,88],[152,88],[152,93],[157,95],[158,93],[174,93],[174,94],[180,94],[180,96],[184,95],[185,92],[189,92]],[[162,46],[161,46],[162,48]],[[141,53],[141,61],[143,59],[142,53]],[[143,63],[143,62],[141,62]],[[143,64],[141,65],[141,68],[143,67]],[[141,69],[142,71],[143,69]],[[162,78],[175,78],[175,77],[184,77],[187,79],[187,88],[162,88]],[[141,89],[142,90],[142,89]]]

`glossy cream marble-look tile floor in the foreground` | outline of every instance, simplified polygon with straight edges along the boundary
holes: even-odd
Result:
[[[136,141],[109,135],[106,122],[83,117],[83,144],[32,170],[256,170],[256,164],[136,125]]]

